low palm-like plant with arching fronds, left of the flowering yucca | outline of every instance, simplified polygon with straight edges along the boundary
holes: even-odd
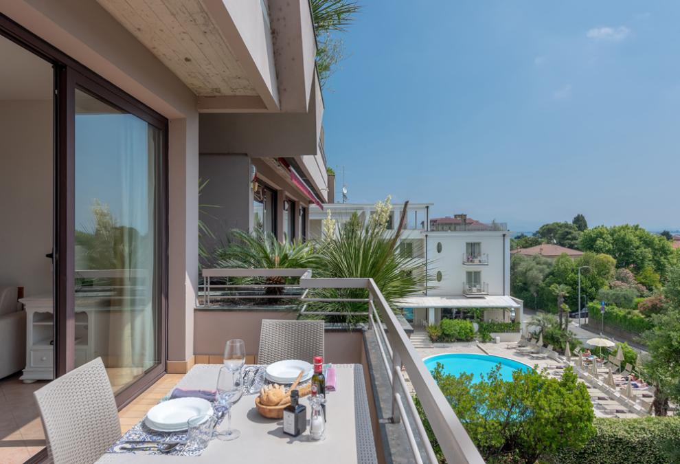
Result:
[[[232,230],[229,245],[215,252],[218,267],[247,269],[306,269],[317,267],[319,256],[312,243],[280,242],[271,232],[256,229],[252,234],[245,230]],[[264,278],[266,285],[284,285],[284,277]],[[265,295],[281,295],[283,287],[267,287]]]

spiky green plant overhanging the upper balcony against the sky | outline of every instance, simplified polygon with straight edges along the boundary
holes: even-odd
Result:
[[[332,32],[344,32],[361,10],[352,0],[311,0],[314,31],[317,36],[317,70],[323,87],[344,58],[344,45]]]

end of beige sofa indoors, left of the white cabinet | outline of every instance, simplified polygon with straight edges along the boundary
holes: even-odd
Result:
[[[16,287],[0,287],[0,379],[26,365],[26,311]]]

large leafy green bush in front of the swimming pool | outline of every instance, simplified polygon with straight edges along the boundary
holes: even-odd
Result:
[[[514,371],[512,381],[501,377],[500,368],[475,384],[472,375],[445,374],[441,364],[432,373],[485,461],[535,463],[567,446],[585,445],[595,432],[593,405],[571,366],[561,379],[529,369]],[[415,401],[441,462],[441,448]]]

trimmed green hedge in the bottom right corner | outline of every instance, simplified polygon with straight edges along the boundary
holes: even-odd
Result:
[[[595,419],[597,433],[580,450],[562,450],[559,464],[680,462],[680,417]]]

